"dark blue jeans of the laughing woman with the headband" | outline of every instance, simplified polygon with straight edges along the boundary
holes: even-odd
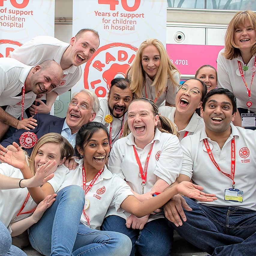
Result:
[[[147,222],[142,230],[127,228],[125,223],[124,218],[110,215],[104,219],[102,230],[116,231],[129,236],[132,242],[131,256],[135,251],[147,256],[170,255],[173,229],[167,227],[164,218]]]

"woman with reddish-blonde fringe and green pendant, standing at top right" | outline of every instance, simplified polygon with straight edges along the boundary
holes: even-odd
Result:
[[[218,87],[233,92],[242,113],[256,113],[256,14],[239,11],[230,21],[225,35],[225,48],[218,54]],[[241,126],[236,115],[234,125]],[[255,129],[255,127],[251,127]]]

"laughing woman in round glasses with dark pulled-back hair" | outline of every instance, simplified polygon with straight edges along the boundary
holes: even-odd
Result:
[[[191,78],[179,86],[175,98],[176,107],[159,107],[160,115],[166,116],[176,125],[180,141],[204,127],[203,119],[197,115],[196,110],[200,110],[206,93],[206,85],[197,78]]]

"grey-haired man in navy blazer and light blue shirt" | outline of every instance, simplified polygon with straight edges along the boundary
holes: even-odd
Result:
[[[29,132],[36,134],[38,139],[49,132],[57,132],[65,137],[74,147],[77,131],[83,124],[92,122],[95,118],[99,110],[99,100],[94,92],[82,89],[80,92],[75,92],[72,95],[71,102],[68,104],[69,107],[65,118],[42,113],[35,114],[34,119],[37,120],[37,126]],[[25,129],[17,130],[11,137],[2,141],[2,146],[8,148],[14,141],[20,145],[20,137],[25,132],[28,131]],[[30,155],[32,149],[25,150]]]

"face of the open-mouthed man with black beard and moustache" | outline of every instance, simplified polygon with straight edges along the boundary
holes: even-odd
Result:
[[[133,93],[130,88],[120,89],[115,85],[111,87],[107,101],[108,108],[113,117],[120,118],[127,112]]]

